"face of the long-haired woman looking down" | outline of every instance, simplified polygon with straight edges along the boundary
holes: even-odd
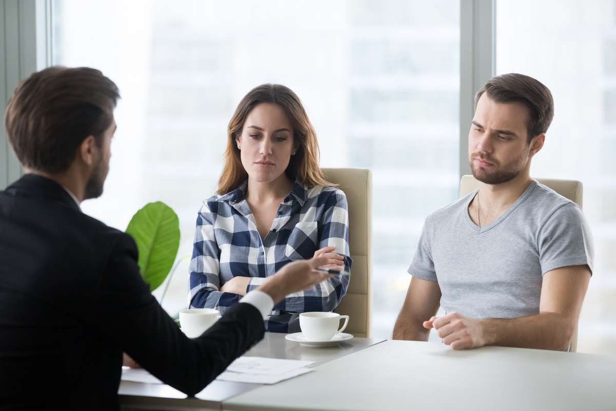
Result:
[[[248,178],[257,182],[276,181],[294,153],[291,122],[285,110],[272,103],[261,103],[248,113],[235,142]]]

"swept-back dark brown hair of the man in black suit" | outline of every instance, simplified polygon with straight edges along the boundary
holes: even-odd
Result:
[[[94,68],[49,67],[22,81],[6,108],[9,142],[23,166],[66,171],[81,142],[113,120],[118,86]]]

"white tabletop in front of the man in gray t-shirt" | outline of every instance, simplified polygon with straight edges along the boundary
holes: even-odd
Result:
[[[616,410],[616,356],[385,341],[223,410]]]

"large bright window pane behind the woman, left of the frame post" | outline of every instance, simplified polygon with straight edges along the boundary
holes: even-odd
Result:
[[[373,171],[373,335],[391,336],[423,219],[457,195],[457,1],[53,5],[54,63],[99,68],[122,94],[105,193],[86,213],[125,229],[165,201],[190,256],[235,106],[258,84],[285,84],[317,130],[322,166]],[[163,302],[170,313],[187,304],[187,266]]]

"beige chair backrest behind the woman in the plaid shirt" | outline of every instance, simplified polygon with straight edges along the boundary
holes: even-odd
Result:
[[[363,168],[323,168],[322,171],[327,181],[340,185],[349,205],[351,281],[334,312],[349,315],[344,332],[368,337],[372,314],[372,175]]]

